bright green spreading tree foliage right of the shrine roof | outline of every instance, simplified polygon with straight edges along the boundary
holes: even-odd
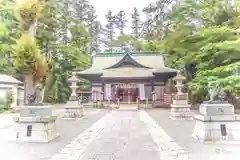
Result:
[[[198,97],[207,95],[214,81],[229,96],[239,96],[239,5],[228,0],[185,0],[173,5],[166,36],[156,47],[171,67],[179,68]]]

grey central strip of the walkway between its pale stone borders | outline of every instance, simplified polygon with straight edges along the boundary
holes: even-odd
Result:
[[[139,112],[118,111],[78,160],[159,160],[156,144]]]

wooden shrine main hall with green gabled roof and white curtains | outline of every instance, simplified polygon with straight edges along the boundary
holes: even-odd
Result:
[[[174,77],[177,70],[166,67],[164,57],[157,52],[98,53],[93,57],[92,66],[77,72],[79,78],[90,81],[92,100],[113,100],[134,103],[156,99],[164,101],[166,82]],[[102,94],[100,94],[102,93]]]

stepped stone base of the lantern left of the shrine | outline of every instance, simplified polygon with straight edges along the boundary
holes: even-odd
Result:
[[[63,119],[78,120],[83,117],[83,105],[79,105],[77,101],[68,101],[64,109]]]

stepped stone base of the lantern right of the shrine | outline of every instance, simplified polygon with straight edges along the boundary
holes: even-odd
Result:
[[[170,118],[172,120],[192,120],[190,112],[191,105],[187,100],[173,100],[170,110]]]

